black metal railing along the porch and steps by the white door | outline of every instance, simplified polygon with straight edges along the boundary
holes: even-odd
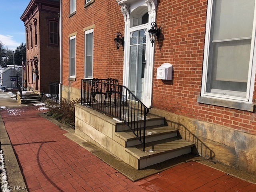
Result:
[[[108,79],[82,79],[81,104],[110,114],[132,130],[145,151],[146,114],[149,109],[118,81]]]

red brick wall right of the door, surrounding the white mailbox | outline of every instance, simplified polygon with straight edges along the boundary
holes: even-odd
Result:
[[[255,113],[197,102],[202,83],[206,11],[207,0],[160,0],[156,21],[162,27],[162,36],[156,43],[153,107],[256,134]],[[173,64],[171,82],[156,79],[156,68],[164,62]]]

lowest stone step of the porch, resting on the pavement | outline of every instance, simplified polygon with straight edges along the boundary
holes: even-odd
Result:
[[[145,151],[142,145],[125,148],[130,154],[129,164],[136,169],[142,169],[153,164],[191,153],[193,143],[174,137],[146,143]]]

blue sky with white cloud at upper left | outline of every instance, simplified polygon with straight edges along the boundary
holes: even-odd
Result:
[[[0,41],[15,50],[26,43],[24,22],[20,20],[30,0],[0,0]]]

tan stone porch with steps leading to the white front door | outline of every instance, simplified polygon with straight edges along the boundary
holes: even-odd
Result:
[[[178,137],[175,127],[165,119],[148,114],[145,151],[128,126],[118,119],[76,104],[75,133],[138,170],[191,153],[194,144]],[[140,130],[138,134],[140,133]]]

